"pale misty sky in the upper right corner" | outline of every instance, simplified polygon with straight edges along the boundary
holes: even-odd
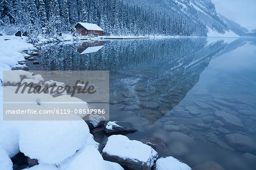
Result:
[[[212,0],[217,13],[248,30],[256,28],[256,0]]]

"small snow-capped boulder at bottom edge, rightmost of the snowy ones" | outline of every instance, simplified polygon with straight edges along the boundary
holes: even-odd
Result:
[[[156,170],[190,170],[191,168],[172,156],[161,157],[156,161]]]

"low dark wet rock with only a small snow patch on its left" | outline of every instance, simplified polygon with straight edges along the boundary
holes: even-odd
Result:
[[[132,123],[129,122],[108,122],[105,133],[110,134],[128,134],[138,131]]]

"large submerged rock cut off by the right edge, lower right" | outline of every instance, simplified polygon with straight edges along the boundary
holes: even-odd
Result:
[[[252,139],[249,136],[241,134],[228,134],[225,137],[229,144],[237,150],[243,152],[253,152],[256,150],[255,139]]]

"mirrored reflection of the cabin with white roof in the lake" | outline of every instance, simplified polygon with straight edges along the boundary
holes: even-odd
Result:
[[[92,52],[99,51],[102,47],[104,47],[104,44],[102,41],[84,42],[81,45],[79,45],[77,52],[79,52],[80,54],[92,53]]]

